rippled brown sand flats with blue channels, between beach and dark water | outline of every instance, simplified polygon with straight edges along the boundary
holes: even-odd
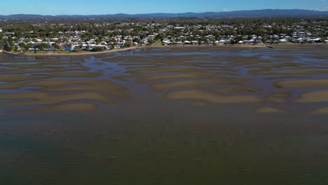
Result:
[[[328,102],[324,76],[328,55],[323,46],[306,46],[307,53],[296,46],[218,48],[144,48],[97,57],[8,57],[0,61],[0,90],[4,92],[0,107],[40,105],[50,111],[78,111],[81,104],[92,110],[99,104],[86,101],[130,100],[129,93],[143,85],[149,89],[142,90],[160,93],[162,100],[190,100],[189,105],[195,107],[261,104],[255,111],[284,112],[274,104],[287,110],[294,109],[295,103]],[[306,105],[296,108],[302,106]]]

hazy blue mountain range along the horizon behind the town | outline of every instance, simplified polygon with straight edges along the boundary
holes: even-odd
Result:
[[[328,16],[328,11],[264,9],[255,11],[205,12],[205,13],[144,13],[144,14],[107,14],[107,15],[0,15],[0,18],[251,18],[251,17],[307,17]]]

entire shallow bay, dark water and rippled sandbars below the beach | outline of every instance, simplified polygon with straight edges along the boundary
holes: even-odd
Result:
[[[328,184],[326,49],[0,55],[0,184]]]

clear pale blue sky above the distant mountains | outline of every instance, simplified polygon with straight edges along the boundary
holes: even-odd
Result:
[[[0,2],[0,15],[203,13],[268,8],[328,11],[328,0],[8,0]]]

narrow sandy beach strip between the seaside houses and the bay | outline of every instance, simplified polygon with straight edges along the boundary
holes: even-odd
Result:
[[[49,53],[49,54],[38,54],[38,53],[13,53],[5,50],[0,50],[0,54],[4,55],[14,55],[20,57],[53,57],[53,56],[90,56],[90,55],[102,55],[107,53],[117,53],[122,51],[128,50],[136,50],[136,49],[149,49],[149,48],[217,48],[217,49],[260,49],[260,48],[308,48],[308,47],[325,47],[328,46],[327,44],[296,44],[296,43],[289,43],[289,44],[272,44],[272,45],[184,45],[184,46],[133,46],[130,48],[121,48],[121,49],[114,49],[114,50],[104,50],[100,52],[90,52],[90,53],[69,53],[69,54],[58,54],[58,53]]]

